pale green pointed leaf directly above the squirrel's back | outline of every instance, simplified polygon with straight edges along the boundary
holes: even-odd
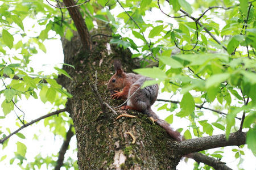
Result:
[[[151,78],[158,78],[158,79],[165,79],[167,78],[167,75],[163,73],[161,69],[158,67],[152,67],[152,68],[144,68],[144,69],[135,69],[133,70],[135,73],[151,77]]]

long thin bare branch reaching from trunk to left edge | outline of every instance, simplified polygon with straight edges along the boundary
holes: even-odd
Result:
[[[44,118],[47,118],[47,117],[50,117],[50,116],[53,116],[53,115],[55,115],[55,114],[59,114],[59,113],[61,113],[61,112],[65,112],[65,111],[67,111],[67,108],[60,109],[60,110],[57,110],[57,111],[55,111],[55,112],[48,113],[48,114],[46,114],[46,115],[44,115],[44,116],[42,116],[42,117],[39,117],[39,118],[37,118],[36,120],[33,120],[33,121],[31,121],[31,122],[29,122],[29,123],[27,123],[27,124],[21,126],[19,129],[15,130],[13,133],[9,134],[7,137],[5,137],[5,138],[3,138],[3,139],[0,139],[0,143],[5,142],[5,141],[6,141],[7,139],[9,139],[12,135],[18,133],[20,130],[26,128],[27,126],[30,126],[30,125],[34,124],[35,122],[38,122],[38,121],[40,121],[40,120],[42,120],[42,119],[44,119]]]

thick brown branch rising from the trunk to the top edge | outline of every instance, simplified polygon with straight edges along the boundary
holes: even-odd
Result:
[[[75,6],[76,3],[73,0],[63,0],[65,6]],[[68,8],[69,15],[71,16],[74,24],[76,25],[77,32],[79,32],[80,39],[82,41],[82,46],[86,51],[92,50],[92,40],[90,39],[90,34],[88,28],[85,24],[84,18],[82,18],[79,7]]]

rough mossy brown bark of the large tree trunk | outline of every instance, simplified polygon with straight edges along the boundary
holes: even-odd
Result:
[[[66,6],[69,6],[67,5],[69,2],[64,0]],[[77,12],[79,10],[73,11],[76,11],[75,14],[71,14],[73,21],[84,22],[77,19],[80,18]],[[86,29],[85,23],[82,25],[80,28]],[[71,41],[61,39],[64,62],[75,66],[75,69],[64,66],[73,80],[61,76],[60,82],[73,95],[72,99],[67,101],[67,108],[76,131],[79,168],[176,169],[176,165],[184,154],[212,148],[210,142],[208,147],[189,148],[189,142],[196,142],[193,139],[187,142],[175,142],[163,129],[153,125],[151,120],[142,113],[117,110],[118,114],[129,112],[138,118],[122,117],[116,120],[117,115],[100,103],[98,97],[95,96],[92,85],[97,79],[96,85],[102,101],[110,105],[120,104],[121,101],[110,101],[110,94],[106,91],[106,84],[114,72],[111,61],[113,57],[121,58],[126,71],[131,71],[136,66],[130,58],[130,51],[110,46],[109,37],[100,35],[91,40],[90,37],[97,33],[111,35],[110,29],[106,27],[90,33],[86,30],[83,33],[74,32]],[[133,139],[126,132],[134,135],[136,138],[134,144],[131,143]],[[220,142],[223,142],[221,137]],[[232,145],[242,145],[245,134],[234,135],[234,138],[235,142]],[[209,138],[205,140],[209,141]],[[204,145],[204,141],[199,140],[199,143]],[[221,146],[221,144],[217,145],[217,147]],[[225,143],[225,146],[229,144]],[[194,157],[197,162],[204,162],[202,161],[204,156],[195,154]],[[216,164],[214,159],[205,160],[207,161]]]

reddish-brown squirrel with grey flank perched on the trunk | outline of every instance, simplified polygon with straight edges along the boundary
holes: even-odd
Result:
[[[145,80],[152,79],[139,74],[125,73],[119,60],[114,60],[114,68],[115,74],[110,78],[107,87],[108,90],[112,91],[112,99],[126,100],[135,92],[135,94],[131,96],[130,100],[127,101],[127,105],[122,106],[121,109],[132,109],[147,114],[148,117],[154,118],[156,124],[166,130],[167,134],[170,135],[171,138],[178,142],[183,141],[180,133],[174,131],[166,121],[159,119],[157,114],[151,109],[151,105],[155,103],[158,96],[158,84],[138,90],[138,88],[141,88]],[[121,89],[122,91],[119,91]]]

